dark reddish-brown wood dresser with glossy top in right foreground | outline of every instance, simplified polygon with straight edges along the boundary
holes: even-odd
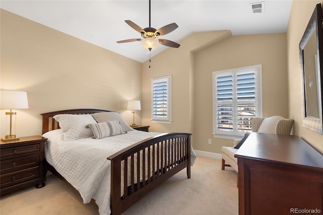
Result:
[[[239,214],[323,213],[323,155],[298,136],[251,133],[235,157]]]

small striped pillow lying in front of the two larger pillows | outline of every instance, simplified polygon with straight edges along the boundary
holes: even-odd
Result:
[[[101,139],[103,137],[111,137],[122,134],[122,128],[119,121],[110,121],[104,123],[91,123],[87,127],[92,129],[93,139]]]

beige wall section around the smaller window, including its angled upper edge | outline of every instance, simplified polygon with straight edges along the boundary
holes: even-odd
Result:
[[[193,132],[194,61],[193,52],[231,36],[230,31],[194,33],[183,39],[179,48],[168,48],[142,65],[142,123],[150,131]],[[201,40],[203,38],[203,40]],[[153,50],[152,50],[153,51]],[[172,124],[151,123],[151,78],[172,75]]]

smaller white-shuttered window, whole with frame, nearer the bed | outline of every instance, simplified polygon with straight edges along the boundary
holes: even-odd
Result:
[[[172,123],[172,76],[151,79],[151,122]]]

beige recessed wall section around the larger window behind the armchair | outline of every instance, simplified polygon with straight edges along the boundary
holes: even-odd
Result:
[[[195,54],[194,143],[202,151],[221,153],[232,139],[212,135],[212,72],[262,65],[262,116],[288,118],[286,34],[232,36]],[[212,144],[208,144],[208,139]]]

